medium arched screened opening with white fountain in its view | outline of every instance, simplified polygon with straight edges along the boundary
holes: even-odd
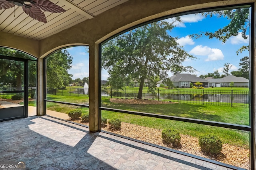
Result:
[[[45,114],[76,119],[89,114],[89,47],[60,49],[45,61]],[[73,117],[72,112],[78,112]]]

